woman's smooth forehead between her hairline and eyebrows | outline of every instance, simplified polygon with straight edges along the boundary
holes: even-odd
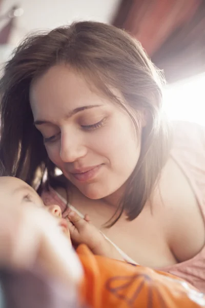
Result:
[[[60,118],[75,108],[88,105],[113,105],[83,73],[66,65],[51,67],[30,87],[34,120]]]

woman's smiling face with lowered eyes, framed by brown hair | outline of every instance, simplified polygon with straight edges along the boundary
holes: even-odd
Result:
[[[122,187],[140,152],[126,111],[66,65],[32,84],[30,102],[50,160],[85,196],[105,198]]]

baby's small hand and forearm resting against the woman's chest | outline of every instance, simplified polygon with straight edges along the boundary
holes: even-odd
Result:
[[[117,249],[91,224],[88,215],[83,219],[75,211],[70,211],[68,219],[71,240],[75,244],[86,244],[95,255],[124,260]]]

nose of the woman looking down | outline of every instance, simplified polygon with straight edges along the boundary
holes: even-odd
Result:
[[[73,163],[86,153],[87,148],[78,132],[61,132],[60,158],[64,163]]]

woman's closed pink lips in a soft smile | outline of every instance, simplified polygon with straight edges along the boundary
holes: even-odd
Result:
[[[81,168],[81,169],[75,169],[70,173],[79,182],[87,182],[96,177],[102,165],[103,164],[92,166],[92,167]]]

